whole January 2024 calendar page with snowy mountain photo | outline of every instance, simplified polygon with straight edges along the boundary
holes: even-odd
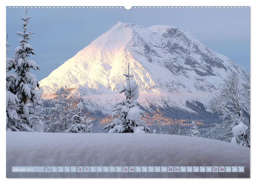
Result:
[[[7,178],[249,178],[249,6],[7,6]]]

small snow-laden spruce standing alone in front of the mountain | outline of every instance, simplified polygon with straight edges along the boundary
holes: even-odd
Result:
[[[133,80],[133,75],[129,73],[123,74],[126,77],[126,85],[123,86],[126,100],[114,104],[112,118],[116,117],[113,122],[105,126],[103,129],[109,129],[109,133],[140,133],[149,131],[146,122],[140,118],[144,116],[145,112],[140,109],[138,104],[139,90],[138,85]]]

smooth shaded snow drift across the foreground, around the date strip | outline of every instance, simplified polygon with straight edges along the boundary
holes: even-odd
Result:
[[[12,173],[12,166],[244,166],[231,173]],[[6,132],[6,177],[250,177],[250,149],[165,134]]]

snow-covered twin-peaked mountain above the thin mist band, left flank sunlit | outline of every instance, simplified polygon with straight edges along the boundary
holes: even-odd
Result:
[[[118,22],[39,83],[44,98],[67,85],[85,96],[113,99],[125,84],[128,63],[142,96],[206,99],[228,74],[248,75],[187,31]]]

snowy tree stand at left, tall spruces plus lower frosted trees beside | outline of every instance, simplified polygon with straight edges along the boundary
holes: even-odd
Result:
[[[34,48],[28,44],[33,32],[27,32],[31,17],[22,18],[23,31],[20,45],[12,58],[7,57],[6,48],[6,130],[10,131],[50,131],[50,132],[92,132],[93,123],[88,116],[85,120],[83,103],[70,96],[70,89],[56,91],[57,103],[46,108],[40,101],[39,83],[30,70],[40,70],[39,66],[28,59],[35,55]],[[7,34],[8,38],[8,34]],[[6,39],[6,47],[10,46]],[[75,104],[76,103],[76,104]]]

